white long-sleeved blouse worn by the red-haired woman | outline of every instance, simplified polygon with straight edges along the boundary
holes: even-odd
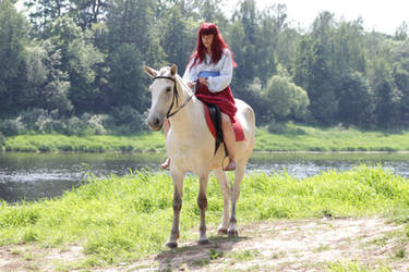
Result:
[[[219,92],[224,90],[226,87],[229,86],[231,83],[231,77],[233,75],[233,65],[232,65],[232,59],[231,59],[231,52],[229,49],[225,48],[222,49],[221,58],[217,63],[210,63],[212,58],[208,53],[206,53],[206,58],[202,63],[197,63],[192,66],[192,63],[194,61],[194,58],[191,60],[191,62],[187,66],[187,71],[184,71],[183,74],[183,81],[189,84],[193,83],[199,79],[197,75],[202,71],[208,71],[208,72],[219,72],[220,75],[208,77],[207,78],[207,88],[212,92]]]

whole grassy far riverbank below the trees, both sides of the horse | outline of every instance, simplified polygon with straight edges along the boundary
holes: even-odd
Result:
[[[409,132],[361,132],[354,128],[317,128],[292,123],[272,132],[257,128],[255,152],[396,152],[409,151]],[[132,136],[19,135],[3,140],[5,152],[157,152],[165,153],[160,132]]]

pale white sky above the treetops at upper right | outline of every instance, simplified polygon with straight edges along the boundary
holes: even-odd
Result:
[[[227,0],[234,9],[240,0]],[[329,11],[339,21],[363,20],[365,30],[393,35],[404,22],[409,24],[409,0],[256,0],[258,10],[274,3],[287,5],[288,22],[308,29],[320,12]]]

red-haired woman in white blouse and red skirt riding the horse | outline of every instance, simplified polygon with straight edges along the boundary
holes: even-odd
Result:
[[[237,107],[230,90],[232,70],[237,64],[233,61],[229,47],[222,39],[217,26],[213,23],[203,23],[197,32],[195,52],[183,75],[183,81],[190,88],[196,88],[196,97],[204,102],[217,104],[221,112],[221,129],[224,141],[229,156],[229,163],[224,169],[236,169],[234,150],[236,136],[231,123],[234,122]],[[169,122],[164,123],[167,135]],[[161,164],[167,169],[170,160]]]

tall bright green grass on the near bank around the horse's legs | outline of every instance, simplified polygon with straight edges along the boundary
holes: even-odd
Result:
[[[183,189],[181,239],[196,239],[197,180],[188,176]],[[305,180],[289,175],[248,175],[238,203],[240,224],[274,219],[365,217],[382,214],[406,223],[409,180],[381,166],[361,165],[328,171]],[[218,182],[208,183],[207,226],[216,227],[222,200]],[[134,172],[88,182],[57,199],[0,205],[0,245],[83,247],[80,268],[135,261],[164,249],[172,218],[172,182],[166,173]],[[193,236],[192,236],[193,235]],[[213,255],[216,257],[218,252]],[[239,258],[251,258],[245,252]],[[336,270],[336,269],[335,269]]]

